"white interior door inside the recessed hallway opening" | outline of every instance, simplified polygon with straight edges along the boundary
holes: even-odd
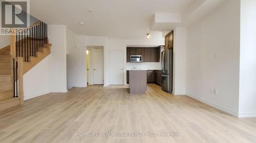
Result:
[[[93,84],[103,84],[103,51],[93,52]]]

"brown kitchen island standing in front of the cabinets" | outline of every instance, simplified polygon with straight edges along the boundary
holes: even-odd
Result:
[[[145,94],[147,70],[129,70],[130,94]]]

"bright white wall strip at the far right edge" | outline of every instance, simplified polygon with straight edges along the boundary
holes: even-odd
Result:
[[[239,117],[256,117],[256,1],[241,0]]]

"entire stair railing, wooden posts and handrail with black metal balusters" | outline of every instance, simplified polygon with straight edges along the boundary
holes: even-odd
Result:
[[[35,52],[38,51],[38,45],[40,46],[44,46],[44,44],[47,43],[47,24],[42,22],[42,21],[37,21],[35,22],[33,25],[30,25],[26,28],[23,28],[23,31],[27,29],[27,32],[29,32],[29,37],[27,35],[27,39],[26,36],[24,35],[24,39],[23,39],[23,33],[20,33],[14,29],[12,29],[11,31],[11,35],[10,35],[10,55],[11,58],[14,60],[12,61],[12,67],[13,69],[16,68],[16,72],[15,70],[13,70],[12,72],[12,77],[14,79],[14,83],[16,81],[16,89],[15,89],[15,85],[13,85],[13,91],[14,91],[14,97],[20,97],[20,104],[24,103],[24,92],[23,92],[23,74],[24,74],[24,60],[25,62],[29,62],[29,56],[35,56]],[[34,31],[33,31],[34,30]],[[38,31],[39,30],[39,31]],[[32,33],[31,33],[32,31]],[[33,35],[33,32],[36,32]],[[32,34],[32,37],[31,35]],[[21,36],[21,38],[20,38]],[[32,44],[31,44],[31,39],[32,39]],[[36,43],[33,43],[33,39],[36,39]],[[38,39],[40,40],[39,43],[37,42]],[[26,41],[27,41],[27,48],[26,46],[23,49],[23,41],[24,41],[24,46],[26,45]],[[20,42],[22,43],[22,45],[20,46]],[[35,46],[34,46],[35,44]],[[28,48],[29,45],[29,48]],[[32,46],[31,46],[32,45]],[[20,51],[20,47],[21,47],[21,51]],[[25,50],[25,51],[23,51]],[[26,51],[27,50],[27,51]],[[22,55],[20,55],[20,52],[22,53]],[[18,54],[17,54],[18,53]],[[23,54],[24,53],[24,54]],[[23,57],[24,55],[24,57]],[[15,63],[13,63],[15,62]],[[16,75],[15,75],[16,73]],[[16,78],[15,78],[16,76]],[[17,84],[18,83],[18,84]],[[15,94],[15,90],[16,92],[18,91],[18,93]]]

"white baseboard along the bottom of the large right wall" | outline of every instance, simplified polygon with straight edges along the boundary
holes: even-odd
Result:
[[[221,105],[212,103],[212,102],[210,102],[210,101],[207,101],[207,100],[205,100],[205,99],[203,99],[203,98],[200,98],[200,97],[197,97],[197,96],[195,96],[195,95],[191,95],[191,94],[188,94],[188,93],[186,93],[186,95],[189,96],[189,97],[191,97],[191,98],[194,98],[194,99],[196,99],[196,100],[199,100],[199,101],[201,101],[201,102],[203,102],[203,103],[205,103],[205,104],[207,104],[207,105],[210,105],[210,106],[212,106],[212,107],[215,107],[215,108],[217,108],[217,109],[220,109],[220,110],[222,110],[222,111],[224,111],[224,112],[226,112],[226,113],[229,113],[230,115],[233,115],[233,116],[239,118],[239,114],[238,114],[238,112],[236,112],[236,111],[233,111],[233,110],[230,110],[230,109],[228,109],[228,108],[226,108],[226,107],[223,107],[223,106],[221,106]]]

